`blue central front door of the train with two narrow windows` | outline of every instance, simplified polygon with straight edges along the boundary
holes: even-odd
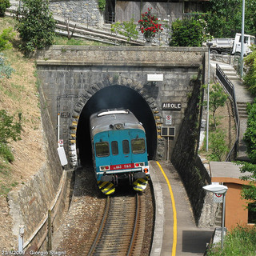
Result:
[[[126,167],[121,165],[126,163],[131,163],[130,131],[129,130],[110,131],[110,148],[111,148],[111,166],[113,166],[112,168],[114,168],[115,170],[119,168],[126,169]]]

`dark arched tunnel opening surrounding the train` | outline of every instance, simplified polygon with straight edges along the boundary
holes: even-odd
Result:
[[[95,93],[86,102],[78,121],[77,148],[81,164],[91,162],[89,118],[99,110],[126,108],[134,113],[146,130],[149,159],[154,159],[157,151],[157,130],[150,106],[137,91],[127,86],[107,86]]]

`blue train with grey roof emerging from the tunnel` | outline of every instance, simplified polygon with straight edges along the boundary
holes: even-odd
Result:
[[[113,194],[124,179],[136,191],[146,189],[150,177],[146,132],[130,110],[91,114],[90,140],[94,172],[103,194]]]

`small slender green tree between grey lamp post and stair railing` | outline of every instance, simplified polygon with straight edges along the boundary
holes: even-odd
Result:
[[[214,128],[216,130],[217,125],[215,113],[219,106],[224,106],[227,96],[224,90],[222,89],[222,86],[214,84],[209,92],[209,98],[209,109],[213,112]]]

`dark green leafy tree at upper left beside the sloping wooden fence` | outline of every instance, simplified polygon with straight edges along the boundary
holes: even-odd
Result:
[[[55,24],[48,0],[24,0],[22,18],[17,30],[22,38],[22,49],[30,53],[54,42]]]

